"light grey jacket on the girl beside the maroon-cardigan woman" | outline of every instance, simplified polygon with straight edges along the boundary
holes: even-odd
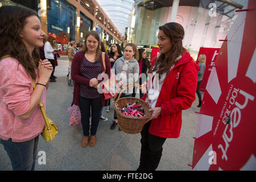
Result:
[[[119,82],[119,76],[125,63],[125,56],[118,58],[113,65],[113,73],[115,73],[115,79]],[[127,80],[123,81],[123,84],[136,82],[139,78],[139,63],[134,57],[128,63]]]

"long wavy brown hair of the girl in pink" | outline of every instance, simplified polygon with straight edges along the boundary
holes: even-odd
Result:
[[[37,48],[30,56],[20,34],[30,16],[37,16],[33,11],[19,6],[2,6],[0,8],[0,59],[10,55],[19,61],[27,73],[36,78],[40,55]]]

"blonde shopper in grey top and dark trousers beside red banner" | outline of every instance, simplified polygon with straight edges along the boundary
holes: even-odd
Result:
[[[200,55],[198,57],[198,61],[199,61],[199,72],[198,72],[198,76],[197,76],[197,87],[196,87],[196,93],[197,96],[199,98],[199,105],[197,105],[197,107],[201,107],[202,105],[202,97],[201,97],[201,92],[200,92],[200,84],[203,80],[204,77],[204,71],[205,71],[205,61],[206,61],[206,56],[205,55]]]

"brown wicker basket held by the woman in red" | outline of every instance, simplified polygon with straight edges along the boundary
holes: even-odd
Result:
[[[117,100],[115,100],[115,98],[118,96],[118,93],[117,93],[115,94],[115,97],[113,99],[114,109],[117,112],[118,125],[120,129],[127,134],[138,134],[142,131],[145,122],[151,117],[152,113],[148,111],[148,109],[150,109],[148,104],[146,104],[146,102],[144,102],[139,98],[135,98],[135,97],[120,98],[123,91],[125,91],[130,86],[136,86],[138,88],[140,87],[139,84],[127,84],[125,87],[122,88],[121,91],[119,90],[119,97],[117,98]],[[122,108],[123,106],[126,106],[127,103],[133,104],[136,101],[138,101],[138,104],[142,105],[141,107],[144,109],[144,114],[145,114],[144,117],[130,117],[122,114],[117,109],[117,107]]]

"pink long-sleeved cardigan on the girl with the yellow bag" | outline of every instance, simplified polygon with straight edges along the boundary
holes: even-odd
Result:
[[[36,78],[35,82],[38,81]],[[0,138],[13,142],[25,142],[38,136],[43,131],[44,119],[37,107],[26,120],[18,116],[30,108],[33,92],[32,78],[19,61],[6,57],[0,60]],[[46,88],[42,98],[46,105]]]

